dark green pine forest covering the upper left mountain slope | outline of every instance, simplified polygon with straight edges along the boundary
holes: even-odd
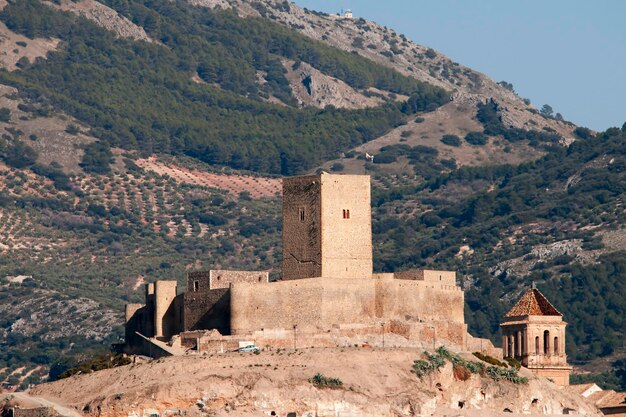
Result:
[[[381,136],[407,115],[437,108],[449,95],[261,18],[182,1],[109,5],[158,43],[118,38],[39,0],[12,2],[0,13],[11,30],[63,42],[45,60],[26,59],[19,71],[0,71],[0,82],[71,114],[111,146],[294,174]],[[362,110],[265,103],[269,96],[293,101],[281,58],[308,62],[358,89],[410,98]],[[260,72],[266,74],[262,84]],[[192,81],[196,74],[202,83]]]

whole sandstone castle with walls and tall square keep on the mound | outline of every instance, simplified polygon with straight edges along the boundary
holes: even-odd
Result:
[[[190,272],[182,293],[176,281],[147,284],[145,304],[126,306],[125,350],[162,356],[250,342],[261,348],[387,343],[502,357],[490,341],[468,334],[455,272],[372,272],[370,207],[369,176],[285,178],[282,279],[211,270]]]

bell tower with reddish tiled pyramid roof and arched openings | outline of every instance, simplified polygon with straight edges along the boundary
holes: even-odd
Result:
[[[563,315],[533,283],[500,324],[504,357],[519,360],[558,385],[569,385],[572,368],[565,354],[565,326]]]

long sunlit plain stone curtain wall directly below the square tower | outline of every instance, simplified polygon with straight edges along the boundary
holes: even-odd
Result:
[[[313,278],[231,288],[231,331],[328,330],[350,323],[442,321],[465,326],[463,292],[395,279]]]

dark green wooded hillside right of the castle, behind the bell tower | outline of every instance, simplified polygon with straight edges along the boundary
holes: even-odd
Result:
[[[613,354],[623,349],[626,328],[626,254],[606,253],[601,233],[621,229],[626,220],[625,145],[626,124],[553,148],[534,162],[463,167],[417,186],[375,190],[375,268],[459,270],[471,282],[470,329],[494,340],[515,295],[535,281],[570,323],[572,360]],[[450,195],[448,189],[464,191]],[[403,215],[407,206],[421,214]],[[515,233],[526,229],[523,237]],[[533,259],[534,247],[555,241],[604,254],[597,263],[574,255]],[[464,245],[471,256],[457,256]],[[518,257],[534,262],[528,275],[494,275],[498,262]]]

